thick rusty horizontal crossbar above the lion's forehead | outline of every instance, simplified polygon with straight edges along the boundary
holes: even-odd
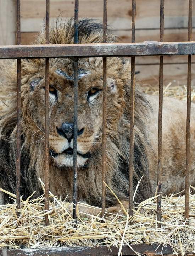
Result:
[[[195,55],[195,41],[0,46],[0,59],[152,55]]]

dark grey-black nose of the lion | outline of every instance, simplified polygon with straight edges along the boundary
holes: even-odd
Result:
[[[77,131],[78,136],[81,135],[84,131],[84,128]],[[73,123],[63,123],[60,128],[57,128],[57,132],[65,137],[68,142],[71,142],[71,139],[74,135],[74,124]]]

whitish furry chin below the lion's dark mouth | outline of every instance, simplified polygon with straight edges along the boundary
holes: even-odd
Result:
[[[73,155],[58,155],[54,158],[55,164],[59,167],[72,167],[73,168]],[[83,158],[77,155],[78,167],[83,167],[87,161],[87,158]]]

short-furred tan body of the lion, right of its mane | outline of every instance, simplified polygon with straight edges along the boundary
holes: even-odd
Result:
[[[153,193],[157,184],[158,159],[158,97],[146,95],[153,111],[149,114],[147,147],[150,180]],[[186,160],[186,102],[163,98],[162,125],[162,191],[164,194],[178,193],[185,189]],[[190,184],[195,185],[195,104],[191,103],[190,136]]]

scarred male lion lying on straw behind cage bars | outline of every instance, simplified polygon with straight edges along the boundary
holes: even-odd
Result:
[[[79,21],[79,43],[101,43],[103,26],[94,20]],[[72,20],[57,22],[50,30],[50,44],[74,42]],[[119,42],[111,30],[107,42]],[[44,29],[37,44],[45,44]],[[106,183],[128,208],[130,69],[127,58],[107,58]],[[49,189],[73,200],[73,77],[74,58],[50,59],[49,87]],[[16,193],[16,62],[1,65],[0,86],[7,107],[0,118],[0,186]],[[190,180],[195,183],[195,105],[191,106]],[[185,188],[186,103],[163,100],[162,191]],[[43,193],[45,138],[45,59],[21,60],[21,194]],[[144,94],[135,85],[134,102],[134,200],[151,197],[157,187],[158,97]],[[78,201],[101,207],[102,188],[102,58],[78,60]],[[2,203],[9,198],[4,194]],[[121,210],[106,191],[108,212]],[[87,209],[86,211],[90,211]],[[91,211],[95,211],[94,209]],[[93,212],[94,213],[94,212]],[[97,213],[94,213],[97,214]]]

